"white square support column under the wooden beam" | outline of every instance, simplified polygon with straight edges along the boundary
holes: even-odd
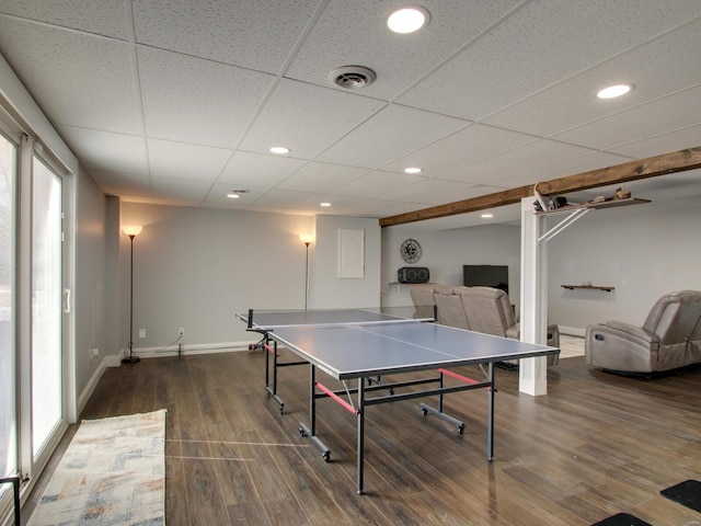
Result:
[[[521,305],[520,339],[545,344],[548,341],[548,243],[538,242],[540,219],[535,197],[521,199]],[[548,392],[548,358],[526,358],[519,364],[518,390],[531,396]]]

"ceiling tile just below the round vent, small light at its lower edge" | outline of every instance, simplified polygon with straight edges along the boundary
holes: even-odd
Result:
[[[251,126],[241,148],[267,152],[286,146],[311,159],[386,104],[327,88],[281,80]]]

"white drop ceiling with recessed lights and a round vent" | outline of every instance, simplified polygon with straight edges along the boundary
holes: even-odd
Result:
[[[126,202],[381,218],[701,145],[699,0],[418,3],[398,35],[395,0],[0,0],[0,53]],[[377,80],[329,81],[349,65]]]

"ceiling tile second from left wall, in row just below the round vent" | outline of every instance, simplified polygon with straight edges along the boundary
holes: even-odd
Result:
[[[274,77],[158,49],[138,50],[149,137],[233,148]]]

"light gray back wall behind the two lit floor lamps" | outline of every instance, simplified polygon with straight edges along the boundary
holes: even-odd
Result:
[[[177,340],[185,351],[257,340],[234,319],[248,309],[302,309],[310,245],[310,308],[379,305],[377,219],[122,204],[122,225],[143,225],[134,240],[134,348],[152,352]],[[338,279],[337,229],[366,231],[365,279]],[[314,232],[315,229],[315,232]],[[122,235],[122,348],[129,340],[128,237]],[[139,329],[146,338],[139,338]],[[170,346],[169,348],[176,348]]]

